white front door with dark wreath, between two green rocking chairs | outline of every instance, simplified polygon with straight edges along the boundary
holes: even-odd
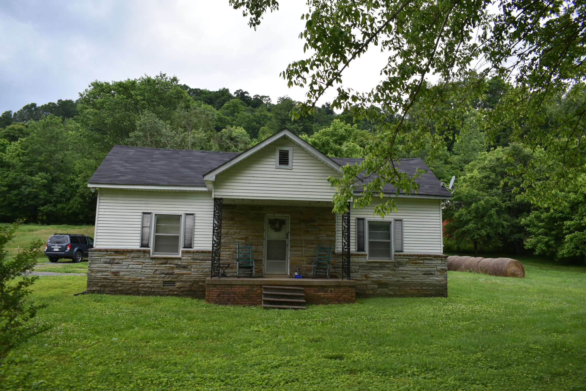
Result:
[[[289,216],[265,216],[264,232],[264,274],[289,274]]]

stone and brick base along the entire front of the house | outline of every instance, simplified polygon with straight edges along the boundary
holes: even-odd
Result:
[[[88,292],[182,295],[217,304],[260,305],[262,285],[276,284],[264,278],[210,279],[210,251],[183,251],[180,258],[149,255],[148,249],[90,250]],[[293,279],[281,279],[279,283],[305,287],[308,304],[354,302],[355,297],[445,297],[448,294],[447,256],[444,255],[396,253],[393,261],[369,261],[364,253],[352,253],[351,262],[352,281],[304,278],[302,283]],[[339,270],[333,270],[332,274],[339,275]],[[175,283],[175,286],[163,283]]]

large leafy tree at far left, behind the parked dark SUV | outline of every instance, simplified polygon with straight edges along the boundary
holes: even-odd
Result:
[[[95,134],[54,115],[27,125],[30,134],[12,142],[2,157],[0,219],[93,221],[96,195],[87,179],[105,156],[96,151]]]

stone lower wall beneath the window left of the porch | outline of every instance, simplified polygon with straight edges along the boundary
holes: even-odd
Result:
[[[149,249],[91,249],[88,293],[179,295],[205,298],[211,251],[183,250],[182,256],[151,257]],[[163,287],[174,282],[175,287]]]

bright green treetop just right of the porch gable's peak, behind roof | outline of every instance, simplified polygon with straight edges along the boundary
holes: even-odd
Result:
[[[364,137],[363,133],[364,131],[360,131],[357,125],[352,126],[340,120],[333,120],[329,127],[315,132],[311,137],[301,135],[301,138],[328,156],[361,158],[363,148],[360,147],[357,139]]]

